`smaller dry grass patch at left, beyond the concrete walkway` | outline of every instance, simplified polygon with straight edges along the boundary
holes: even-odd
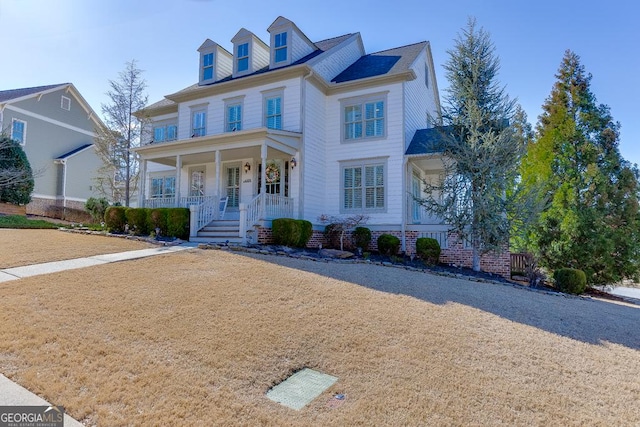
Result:
[[[0,228],[0,269],[148,247],[152,245],[123,238]]]

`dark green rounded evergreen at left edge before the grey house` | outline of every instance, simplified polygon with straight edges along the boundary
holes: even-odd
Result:
[[[31,201],[33,171],[17,141],[0,135],[0,201],[26,205]]]

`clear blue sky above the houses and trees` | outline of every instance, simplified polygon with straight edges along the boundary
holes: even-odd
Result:
[[[640,164],[639,12],[636,0],[0,0],[0,90],[70,82],[102,115],[109,80],[136,60],[153,103],[197,82],[204,40],[232,51],[244,27],[268,43],[281,15],[312,41],[360,32],[367,53],[428,40],[443,100],[447,52],[475,17],[532,125],[571,49],[622,125],[622,155]]]

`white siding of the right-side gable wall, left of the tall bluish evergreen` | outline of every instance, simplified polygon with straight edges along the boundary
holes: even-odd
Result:
[[[417,78],[404,84],[405,94],[405,150],[418,129],[431,127],[427,124],[427,113],[433,119],[439,116],[434,92],[434,79],[429,76],[429,87],[425,85],[426,50],[414,61],[412,69]],[[431,71],[430,71],[431,73]]]

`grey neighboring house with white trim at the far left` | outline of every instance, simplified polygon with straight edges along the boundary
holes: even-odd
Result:
[[[92,178],[102,165],[94,148],[100,125],[71,83],[0,91],[0,129],[22,145],[36,172],[27,213],[84,209],[98,196]]]

